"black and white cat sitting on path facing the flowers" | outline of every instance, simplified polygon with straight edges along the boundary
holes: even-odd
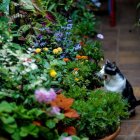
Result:
[[[102,69],[97,73],[101,78],[104,78],[104,88],[108,91],[118,92],[129,103],[128,111],[130,116],[135,115],[135,107],[140,105],[140,100],[137,101],[133,93],[133,88],[125,76],[121,73],[115,62],[106,60]]]

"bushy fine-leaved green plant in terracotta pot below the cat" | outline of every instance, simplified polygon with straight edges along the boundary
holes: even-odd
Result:
[[[83,97],[86,97],[85,100],[79,98],[73,105],[80,118],[67,120],[65,125],[72,123],[79,137],[92,140],[103,139],[115,131],[119,132],[120,120],[128,117],[127,102],[120,94],[98,89],[87,92]]]

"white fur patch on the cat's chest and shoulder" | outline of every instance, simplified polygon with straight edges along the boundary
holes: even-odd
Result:
[[[109,76],[107,80],[104,81],[104,87],[108,91],[122,92],[126,85],[126,79],[122,78],[119,74],[115,76]]]

